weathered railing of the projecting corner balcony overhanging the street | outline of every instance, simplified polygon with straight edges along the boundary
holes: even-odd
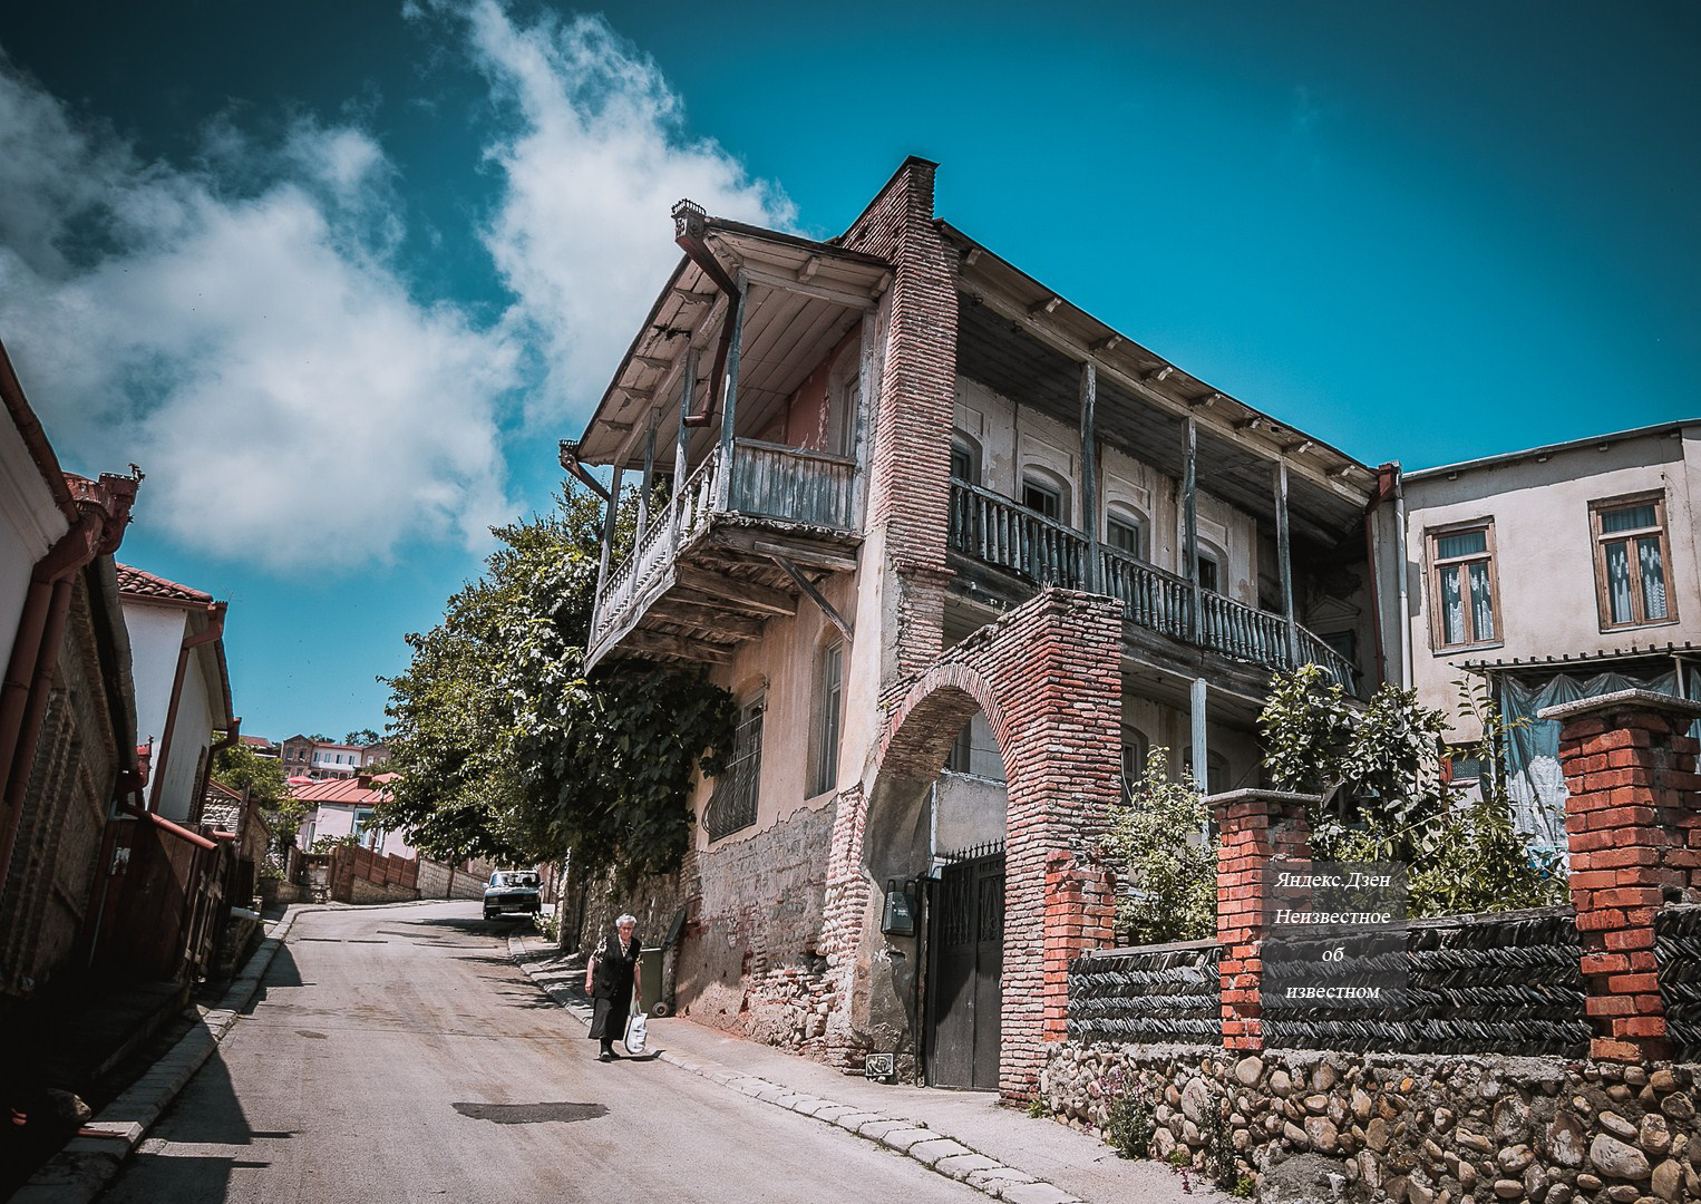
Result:
[[[595,646],[640,605],[662,580],[675,554],[718,514],[803,522],[850,531],[856,525],[856,461],[844,456],[782,447],[755,439],[733,442],[731,480],[723,481],[720,449],[686,478],[684,486],[650,522],[633,553],[609,570],[590,621]],[[721,502],[725,486],[725,503]]]

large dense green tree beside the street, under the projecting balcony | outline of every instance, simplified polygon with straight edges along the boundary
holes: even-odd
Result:
[[[636,493],[621,498],[616,561]],[[703,672],[612,662],[585,673],[602,503],[493,531],[461,588],[390,679],[391,798],[379,820],[439,857],[558,860],[585,872],[668,872],[684,855],[692,775],[718,769],[731,697]]]

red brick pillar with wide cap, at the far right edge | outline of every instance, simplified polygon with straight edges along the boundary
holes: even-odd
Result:
[[[1670,1056],[1653,961],[1667,894],[1701,886],[1701,777],[1689,724],[1701,704],[1619,690],[1548,707],[1560,728],[1572,903],[1596,1036],[1613,1061]]]

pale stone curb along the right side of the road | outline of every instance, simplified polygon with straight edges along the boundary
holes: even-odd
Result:
[[[551,981],[551,976],[544,971],[543,963],[536,959],[524,935],[517,932],[509,935],[509,956],[544,995],[570,1012],[580,1024],[590,1024],[590,1007],[565,986],[565,983],[572,981],[572,976],[563,974],[558,976],[558,981]],[[1009,1201],[1010,1204],[1082,1204],[1063,1189],[1043,1178],[1034,1178],[1015,1167],[1005,1167],[997,1158],[988,1158],[978,1150],[970,1150],[954,1138],[922,1127],[917,1121],[864,1112],[849,1104],[801,1095],[789,1087],[771,1083],[765,1078],[745,1075],[703,1058],[668,1053],[667,1049],[658,1051],[657,1059],[708,1078],[721,1087],[730,1087],[740,1095],[748,1095],[762,1104],[772,1104],[788,1112],[796,1112],[822,1124],[832,1124],[854,1133],[864,1141],[885,1146],[942,1178],[953,1178],[993,1199]]]

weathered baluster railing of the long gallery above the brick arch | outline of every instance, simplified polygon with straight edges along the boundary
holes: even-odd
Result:
[[[1089,546],[1082,532],[964,481],[951,483],[951,548],[1039,585],[1089,587]],[[1123,604],[1128,622],[1271,668],[1322,665],[1344,690],[1356,690],[1352,662],[1305,628],[1296,628],[1294,662],[1288,621],[1279,614],[1201,590],[1194,616],[1194,590],[1186,578],[1114,548],[1099,549],[1099,588]]]

